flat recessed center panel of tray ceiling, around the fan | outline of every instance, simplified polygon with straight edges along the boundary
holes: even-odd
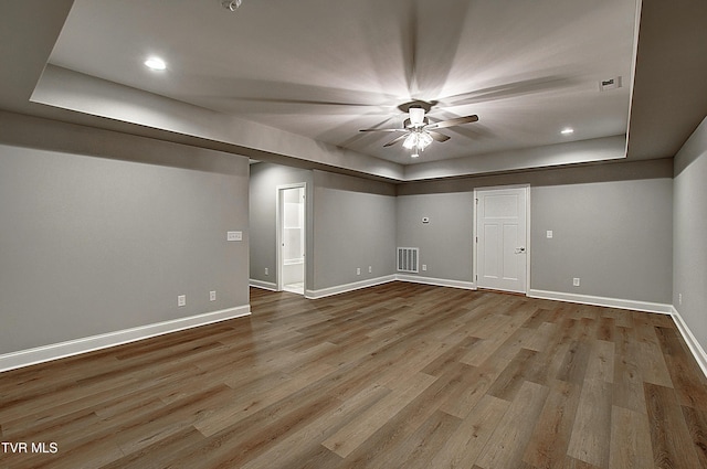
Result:
[[[635,0],[76,0],[50,63],[407,164],[358,130],[401,127],[412,99],[479,116],[419,162],[625,134],[630,86],[599,81],[631,83],[635,18]]]

